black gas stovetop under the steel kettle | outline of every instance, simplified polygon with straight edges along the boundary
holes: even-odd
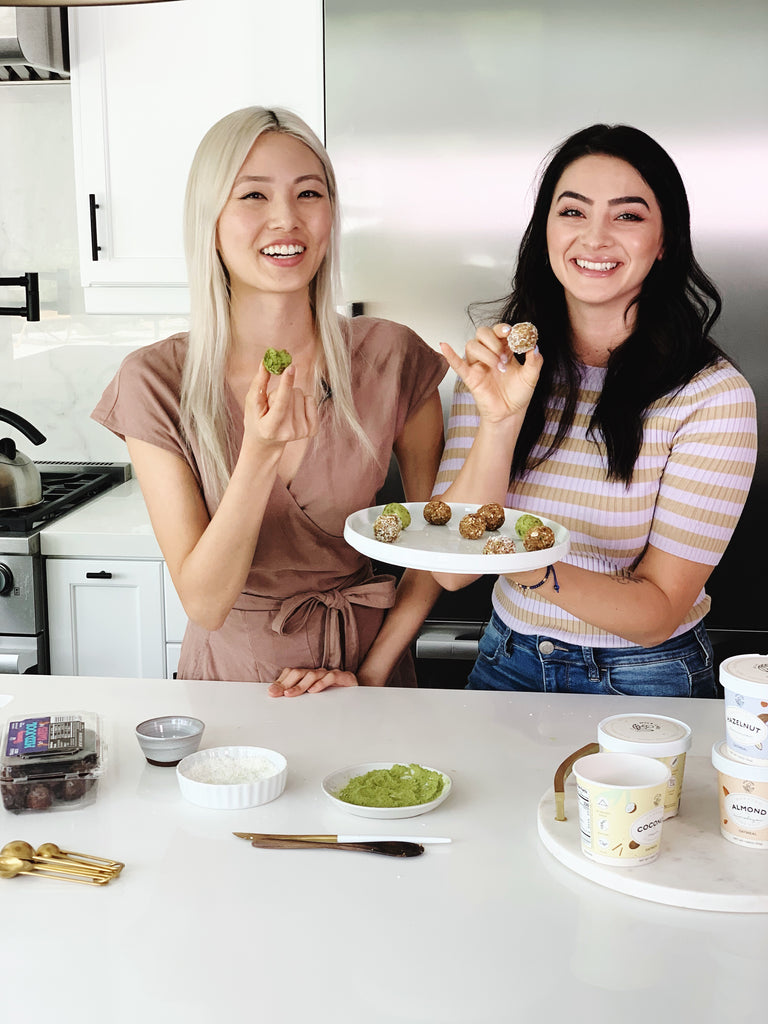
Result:
[[[129,463],[38,463],[43,500],[24,509],[0,509],[0,551],[6,539],[28,538],[103,490],[130,478]]]

